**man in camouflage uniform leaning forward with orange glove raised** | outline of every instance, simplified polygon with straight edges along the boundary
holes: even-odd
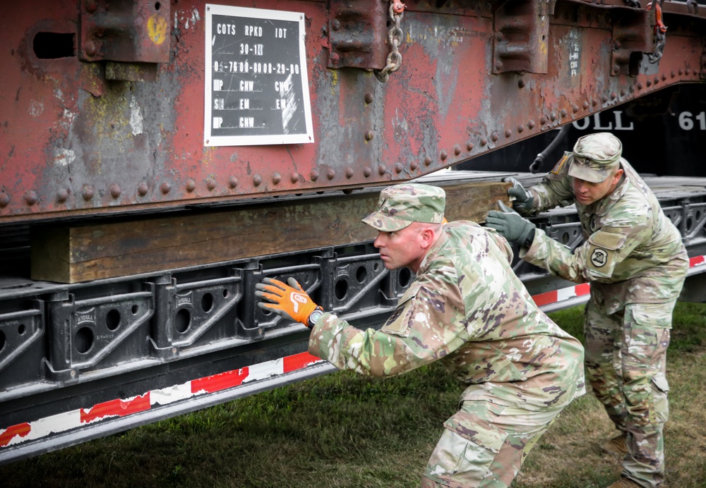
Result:
[[[441,360],[467,389],[445,423],[423,487],[509,487],[556,416],[585,392],[583,348],[537,305],[496,232],[442,224],[445,193],[429,185],[383,190],[363,221],[388,269],[416,279],[380,330],[360,330],[317,305],[294,279],[258,283],[258,305],[308,324],[309,352],[376,377]]]

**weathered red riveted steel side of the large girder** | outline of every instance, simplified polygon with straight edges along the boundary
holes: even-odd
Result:
[[[105,61],[83,61],[92,59],[83,31],[88,0],[15,2],[0,20],[0,223],[383,185],[705,79],[706,10],[671,2],[663,6],[669,30],[659,63],[647,63],[642,47],[616,55],[614,37],[642,32],[649,17],[623,0],[558,1],[542,39],[546,73],[493,74],[501,2],[407,1],[405,61],[384,84],[365,69],[329,67],[329,2],[224,3],[304,13],[316,142],[204,147],[204,1],[160,7],[170,12],[169,39],[160,44],[169,46],[167,61],[148,58],[142,44],[116,47],[131,59],[111,61],[155,63],[155,81],[110,80]],[[543,5],[532,3],[532,11]],[[145,28],[138,22],[145,16],[124,24]],[[544,36],[537,22],[527,49]],[[75,48],[68,42],[49,57],[42,32],[73,39]],[[626,58],[640,61],[636,73],[614,74],[614,61],[626,66]]]

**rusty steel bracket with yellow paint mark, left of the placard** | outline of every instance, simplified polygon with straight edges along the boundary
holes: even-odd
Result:
[[[144,63],[169,62],[169,11],[169,1],[82,0],[79,58],[114,61],[114,80],[154,79],[155,66]]]

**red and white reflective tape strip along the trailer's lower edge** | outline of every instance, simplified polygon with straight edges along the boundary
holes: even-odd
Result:
[[[689,267],[706,266],[706,256],[690,258]],[[533,295],[534,303],[542,307],[553,303],[561,303],[578,296],[590,293],[589,283],[569,286],[560,290],[548,291]],[[0,429],[0,449],[25,441],[34,441],[48,437],[51,434],[77,429],[94,422],[101,422],[113,417],[125,417],[133,413],[144,412],[155,405],[167,405],[177,401],[212,394],[240,386],[247,382],[276,377],[297,370],[303,370],[323,360],[309,353],[299,353],[286,358],[259,362],[239,370],[227,371],[213,376],[192,379],[189,382],[169,386],[164,389],[150,390],[143,395],[132,398],[118,398],[98,403],[90,408],[80,408],[70,412],[58,413],[33,422],[24,422]]]

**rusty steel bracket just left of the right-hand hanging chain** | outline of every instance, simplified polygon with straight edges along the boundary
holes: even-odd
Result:
[[[654,51],[654,11],[621,8],[613,17],[611,75],[637,76],[642,53]]]

